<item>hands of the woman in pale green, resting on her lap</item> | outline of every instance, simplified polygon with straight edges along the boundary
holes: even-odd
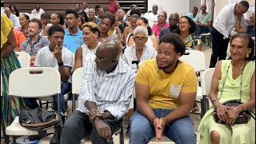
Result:
[[[235,120],[238,118],[238,106],[226,106],[219,103],[216,106],[218,118],[226,124],[234,125]]]

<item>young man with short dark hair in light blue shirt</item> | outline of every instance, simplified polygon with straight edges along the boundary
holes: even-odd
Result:
[[[78,12],[75,10],[66,10],[65,19],[68,28],[65,30],[63,46],[75,54],[78,47],[84,43],[82,31],[78,28]]]

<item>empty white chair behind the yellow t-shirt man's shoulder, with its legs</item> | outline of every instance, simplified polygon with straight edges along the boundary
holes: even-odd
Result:
[[[183,62],[187,62],[194,68],[194,71],[197,74],[200,74],[203,70],[206,70],[206,58],[205,55],[202,53],[202,51],[199,50],[186,50],[186,54],[182,55],[182,57],[179,58],[179,60]],[[198,77],[198,82],[201,81],[201,77]],[[201,103],[201,108],[204,110],[203,105],[203,97],[202,97],[202,87],[198,85],[198,91],[197,91],[197,102]],[[194,113],[198,114],[198,113]],[[202,115],[201,111],[201,116]]]

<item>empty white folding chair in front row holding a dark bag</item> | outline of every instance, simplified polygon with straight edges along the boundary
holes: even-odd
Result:
[[[9,77],[10,97],[42,98],[61,94],[61,76],[58,70],[50,67],[28,67],[14,70]],[[10,99],[10,98],[9,98]],[[9,102],[10,110],[10,102]],[[58,113],[60,106],[58,102]],[[10,111],[9,111],[10,115]],[[54,128],[47,128],[47,133],[54,133]],[[6,135],[36,135],[38,131],[28,130],[21,126],[18,117],[6,127]],[[58,133],[58,136],[60,133]],[[14,138],[15,142],[15,138]]]

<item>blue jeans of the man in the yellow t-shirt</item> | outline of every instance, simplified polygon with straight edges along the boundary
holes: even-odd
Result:
[[[154,109],[154,114],[158,118],[165,117],[173,110]],[[150,120],[142,115],[138,110],[130,118],[131,126],[129,138],[130,144],[146,144],[150,139],[155,137],[154,126],[151,125]],[[194,126],[190,116],[180,118],[174,122],[166,124],[163,135],[176,144],[196,144],[197,135],[194,131]]]

